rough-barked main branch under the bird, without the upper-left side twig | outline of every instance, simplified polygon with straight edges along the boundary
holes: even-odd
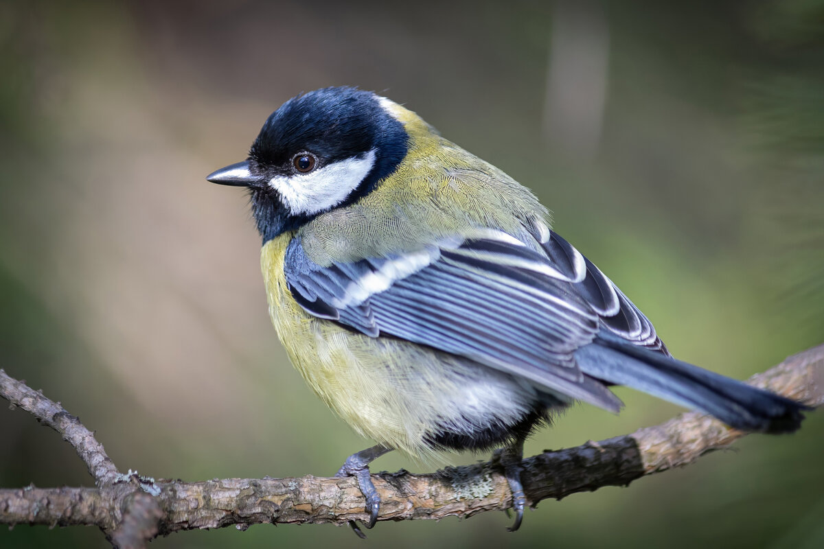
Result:
[[[749,383],[811,406],[821,405],[824,345],[789,357],[753,376]],[[6,387],[0,385],[3,396]],[[631,435],[527,458],[522,473],[524,490],[529,504],[536,505],[547,498],[602,486],[625,486],[636,478],[693,463],[744,435],[747,432],[724,426],[709,416],[688,412]],[[144,539],[193,528],[230,524],[246,528],[255,523],[345,524],[351,519],[367,518],[363,495],[352,478],[230,478],[207,482],[154,482],[136,474],[128,478],[128,484],[115,482],[99,489],[0,490],[0,523],[91,524],[115,532],[110,539],[120,547],[142,547],[139,543]],[[469,517],[511,505],[508,483],[493,462],[424,475],[382,472],[372,475],[372,480],[382,498],[379,520]],[[129,526],[132,518],[136,518],[135,526]],[[120,532],[132,533],[118,537]],[[138,544],[125,545],[129,539],[138,540]]]

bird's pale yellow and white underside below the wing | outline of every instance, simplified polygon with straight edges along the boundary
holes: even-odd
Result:
[[[427,459],[501,445],[541,419],[541,396],[511,375],[307,314],[283,277],[284,240],[262,253],[272,322],[303,379],[358,433]]]

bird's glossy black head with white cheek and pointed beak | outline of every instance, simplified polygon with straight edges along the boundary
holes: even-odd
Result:
[[[330,87],[288,100],[266,119],[246,161],[209,174],[250,189],[264,242],[370,193],[406,156],[395,105],[371,91]]]

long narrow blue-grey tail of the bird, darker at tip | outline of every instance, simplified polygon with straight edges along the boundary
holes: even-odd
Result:
[[[789,398],[602,334],[575,351],[584,374],[717,417],[736,429],[792,433],[803,410]]]

